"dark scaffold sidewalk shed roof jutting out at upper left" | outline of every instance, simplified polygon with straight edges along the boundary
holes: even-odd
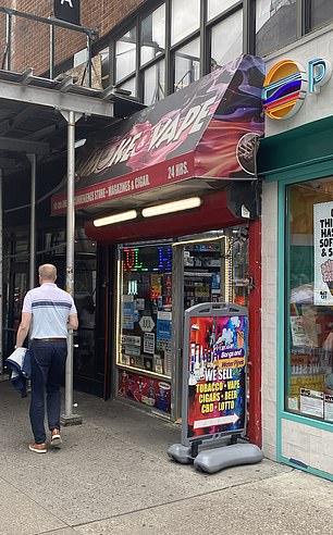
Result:
[[[77,123],[77,138],[95,135],[143,108],[109,87],[89,89],[72,76],[49,79],[0,70],[0,169],[26,166],[26,154],[48,158],[66,150],[66,121],[60,111],[85,115]]]

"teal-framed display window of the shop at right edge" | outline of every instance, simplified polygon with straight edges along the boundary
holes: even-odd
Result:
[[[333,177],[287,187],[285,409],[333,422]]]

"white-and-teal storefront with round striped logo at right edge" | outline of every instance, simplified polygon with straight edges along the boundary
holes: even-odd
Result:
[[[268,457],[333,480],[333,83],[324,39],[274,58],[264,82],[262,430]]]

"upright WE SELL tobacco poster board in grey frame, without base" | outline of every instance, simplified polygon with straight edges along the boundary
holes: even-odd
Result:
[[[247,344],[246,307],[208,302],[185,311],[183,446],[197,449],[226,435],[235,443],[244,433]]]

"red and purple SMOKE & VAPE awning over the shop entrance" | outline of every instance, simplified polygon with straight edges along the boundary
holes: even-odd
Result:
[[[111,137],[101,133],[77,165],[76,208],[112,213],[252,181],[263,72],[260,58],[242,55],[122,121]],[[64,191],[53,196],[53,214],[65,207]]]

